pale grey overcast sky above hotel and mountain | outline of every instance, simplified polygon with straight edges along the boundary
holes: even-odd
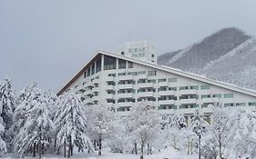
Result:
[[[221,28],[256,35],[255,0],[1,0],[0,78],[56,92],[98,49],[131,41],[163,54]],[[130,33],[130,35],[128,34]]]

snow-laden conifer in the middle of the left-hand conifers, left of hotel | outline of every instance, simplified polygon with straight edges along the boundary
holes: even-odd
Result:
[[[41,158],[48,139],[54,133],[54,124],[46,104],[47,99],[44,93],[33,86],[26,101],[26,107],[22,110],[25,117],[22,121],[23,126],[15,136],[14,150],[16,154],[32,153],[33,149],[33,156],[36,156],[37,149],[39,158]]]

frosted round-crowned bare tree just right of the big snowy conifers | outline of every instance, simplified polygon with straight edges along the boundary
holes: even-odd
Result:
[[[87,107],[88,127],[90,136],[98,143],[98,155],[101,155],[102,140],[108,138],[110,133],[109,125],[113,120],[113,112],[108,109],[106,104],[95,104]]]

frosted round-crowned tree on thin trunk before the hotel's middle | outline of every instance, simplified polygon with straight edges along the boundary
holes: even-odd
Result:
[[[140,144],[140,158],[143,159],[145,145],[153,144],[159,136],[159,114],[147,102],[141,102],[132,107],[129,123]]]

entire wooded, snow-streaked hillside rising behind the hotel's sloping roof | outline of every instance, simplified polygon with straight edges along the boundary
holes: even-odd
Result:
[[[159,65],[256,90],[253,60],[256,59],[256,38],[240,29],[222,29],[194,45],[170,53],[159,56]]]

